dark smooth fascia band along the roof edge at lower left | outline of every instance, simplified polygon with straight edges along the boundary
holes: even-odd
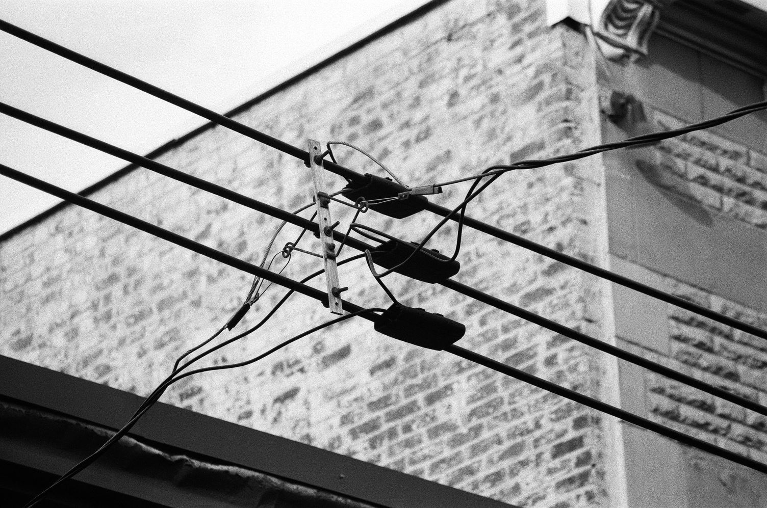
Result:
[[[7,356],[0,356],[2,398],[110,429],[121,428],[144,400]],[[387,508],[509,508],[489,497],[163,403],[154,405],[129,435]]]

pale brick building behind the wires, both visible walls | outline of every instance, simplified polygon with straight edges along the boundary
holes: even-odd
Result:
[[[759,8],[610,2],[591,22],[593,12],[578,3],[432,2],[234,117],[295,146],[310,137],[357,144],[420,185],[765,100],[767,64],[758,48],[767,49],[759,32],[767,13]],[[639,35],[610,21],[615,8],[632,4],[640,4],[629,18]],[[700,20],[686,26],[694,15]],[[706,23],[716,25],[709,37],[699,33]],[[767,328],[765,139],[762,112],[654,146],[509,172],[467,214]],[[380,172],[343,146],[334,153],[357,172]],[[280,208],[310,200],[311,173],[301,161],[219,126],[153,158]],[[344,185],[331,175],[327,181],[332,191]],[[447,186],[430,200],[449,206],[464,192]],[[89,195],[254,263],[279,225],[140,168]],[[345,227],[354,211],[331,208]],[[417,241],[438,218],[369,211],[359,221]],[[297,234],[285,227],[271,254]],[[303,247],[318,251],[308,236]],[[451,252],[455,238],[456,226],[446,225],[430,247]],[[765,403],[761,339],[468,228],[458,260],[454,278],[462,283]],[[283,274],[298,280],[320,267],[295,252]],[[0,354],[139,395],[222,326],[251,283],[247,274],[74,206],[4,234],[0,270]],[[364,261],[341,267],[340,276],[349,287],[344,299],[389,306]],[[445,287],[398,274],[386,280],[403,304],[466,325],[460,346],[767,463],[767,421],[750,411]],[[238,329],[258,323],[284,293],[272,286]],[[294,296],[209,364],[250,358],[330,318],[320,303]],[[518,506],[767,501],[767,479],[745,467],[446,352],[397,342],[363,320],[243,369],[184,379],[163,401]]]

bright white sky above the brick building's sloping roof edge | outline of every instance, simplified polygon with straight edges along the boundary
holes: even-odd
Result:
[[[0,18],[223,113],[423,3],[2,0]],[[5,32],[0,101],[141,155],[206,122]],[[127,166],[2,114],[0,162],[74,192]],[[56,202],[0,176],[0,232]]]

